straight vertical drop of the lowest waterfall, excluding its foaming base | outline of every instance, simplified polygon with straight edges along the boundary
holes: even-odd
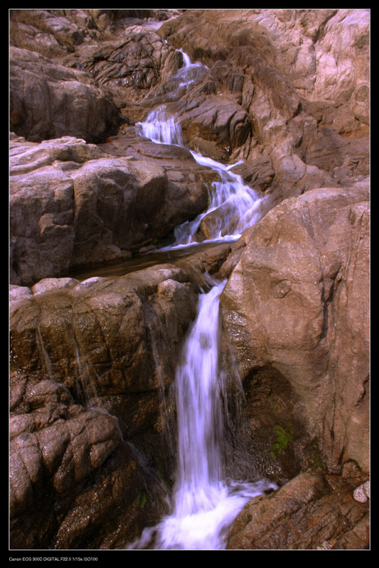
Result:
[[[218,300],[225,282],[199,298],[198,316],[188,334],[176,372],[178,491],[176,515],[207,508],[207,488],[218,490],[223,438],[223,381],[218,376]],[[191,432],[191,435],[188,435]],[[188,496],[190,496],[188,498]]]

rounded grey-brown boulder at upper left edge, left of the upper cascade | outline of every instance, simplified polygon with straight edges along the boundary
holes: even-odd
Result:
[[[110,93],[86,73],[26,49],[10,48],[9,88],[11,130],[30,141],[76,136],[98,143],[121,124]]]

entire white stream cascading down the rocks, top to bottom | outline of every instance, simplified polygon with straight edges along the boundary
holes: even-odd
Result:
[[[188,58],[185,62],[184,71],[191,66]],[[152,111],[139,129],[156,143],[183,145],[180,127],[163,108]],[[254,224],[259,197],[228,166],[192,154],[198,163],[217,170],[220,181],[213,184],[208,211],[178,228],[174,246],[193,242],[202,219],[216,210],[220,217],[213,223],[211,239],[236,239]],[[224,479],[227,389],[225,373],[219,368],[219,301],[226,280],[210,283],[210,291],[199,297],[198,314],[176,371],[178,464],[172,513],[159,525],[144,529],[129,549],[222,550],[230,524],[245,503],[277,488],[265,479],[250,483]]]

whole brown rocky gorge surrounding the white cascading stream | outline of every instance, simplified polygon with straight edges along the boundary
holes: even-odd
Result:
[[[176,369],[215,278],[225,477],[275,486],[223,548],[367,550],[370,12],[9,24],[10,548],[125,549],[169,514]],[[142,128],[159,113],[180,142]],[[256,199],[241,231],[211,160]]]

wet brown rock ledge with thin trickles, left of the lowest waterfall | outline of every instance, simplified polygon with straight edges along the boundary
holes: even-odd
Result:
[[[36,385],[50,379],[80,405],[107,408],[129,439],[154,454],[159,435],[151,424],[164,413],[161,396],[196,310],[194,278],[191,266],[161,265],[114,280],[41,280],[29,294],[12,287],[12,411],[35,409]]]

